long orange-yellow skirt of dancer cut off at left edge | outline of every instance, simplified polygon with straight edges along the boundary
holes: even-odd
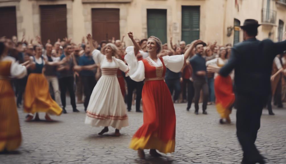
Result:
[[[21,145],[21,130],[9,80],[0,79],[0,151],[12,151]]]

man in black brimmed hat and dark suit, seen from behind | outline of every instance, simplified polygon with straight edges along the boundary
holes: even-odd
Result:
[[[242,163],[247,164],[265,163],[255,147],[255,140],[262,109],[271,91],[273,59],[286,50],[286,40],[277,43],[269,39],[257,40],[258,26],[257,20],[245,20],[241,26],[244,41],[234,45],[228,63],[219,71],[226,77],[235,69],[237,137],[243,149]]]

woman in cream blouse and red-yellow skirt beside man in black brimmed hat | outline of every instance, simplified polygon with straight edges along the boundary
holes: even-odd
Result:
[[[206,66],[210,67],[223,67],[227,63],[227,50],[225,47],[221,47],[219,51],[219,58],[215,58],[206,62]],[[208,72],[213,72],[208,70]],[[231,114],[232,106],[235,101],[235,95],[233,93],[232,78],[233,73],[228,77],[222,77],[218,73],[215,73],[215,96],[217,112],[220,114],[221,119],[219,122],[224,124],[225,122],[231,123],[229,115]]]

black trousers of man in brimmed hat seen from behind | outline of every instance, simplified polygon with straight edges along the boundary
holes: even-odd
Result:
[[[243,149],[243,162],[255,163],[263,157],[255,147],[263,106],[268,96],[237,95],[237,138]]]

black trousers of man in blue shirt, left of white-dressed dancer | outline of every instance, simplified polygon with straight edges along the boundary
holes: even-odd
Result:
[[[95,76],[82,76],[82,81],[84,85],[84,110],[88,108],[88,102],[90,100],[90,96],[92,94],[93,88],[96,85]]]

